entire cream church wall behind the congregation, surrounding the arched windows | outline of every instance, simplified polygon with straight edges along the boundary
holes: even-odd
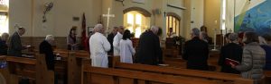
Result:
[[[50,13],[46,15],[47,22],[42,23],[43,4],[53,1],[54,6]],[[87,26],[93,27],[98,23],[100,15],[107,13],[110,7],[111,13],[115,18],[111,18],[109,27],[123,25],[123,10],[129,7],[141,7],[149,13],[154,9],[161,9],[161,14],[152,13],[151,25],[157,25],[164,28],[164,12],[177,13],[181,21],[181,34],[185,31],[183,27],[183,10],[167,7],[166,4],[183,6],[183,0],[145,0],[145,4],[132,3],[132,0],[126,0],[125,6],[115,0],[10,0],[9,8],[9,27],[10,33],[14,32],[14,24],[18,23],[27,29],[23,37],[44,37],[47,34],[55,37],[66,37],[72,26],[78,26],[78,35],[80,36],[82,13],[86,14]],[[79,17],[79,21],[72,21],[72,17]],[[107,24],[106,18],[102,18],[103,24]],[[164,34],[165,35],[165,34]]]

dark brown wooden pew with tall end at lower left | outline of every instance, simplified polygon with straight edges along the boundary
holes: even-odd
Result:
[[[34,81],[35,84],[53,84],[54,73],[47,70],[45,56],[36,55],[35,57],[36,59],[7,56],[8,71],[11,75],[29,78],[33,84]],[[19,80],[14,81],[18,82]]]

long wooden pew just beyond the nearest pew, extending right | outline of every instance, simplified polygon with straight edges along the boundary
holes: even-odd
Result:
[[[180,76],[182,78],[190,78],[193,80],[207,80],[216,81],[220,84],[226,82],[231,82],[232,84],[253,84],[253,80],[242,79],[239,75],[214,72],[214,71],[195,71],[188,69],[176,69],[176,68],[166,68],[161,66],[152,66],[145,64],[132,64],[132,63],[116,63],[115,68],[125,69],[131,71],[144,71],[152,73],[161,74],[171,74],[174,76]]]

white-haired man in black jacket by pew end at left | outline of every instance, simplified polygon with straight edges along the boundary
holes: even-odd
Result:
[[[53,55],[53,49],[52,49],[53,43],[54,43],[53,36],[47,35],[46,38],[40,44],[40,54],[45,55],[46,66],[47,66],[47,70],[49,71],[54,71],[55,62],[54,62],[54,55]],[[54,75],[55,75],[54,84],[58,84],[57,74],[55,73]]]

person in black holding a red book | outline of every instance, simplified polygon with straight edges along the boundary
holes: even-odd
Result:
[[[227,60],[236,61],[238,63],[242,61],[243,49],[242,46],[238,45],[238,34],[231,33],[226,39],[229,40],[229,43],[222,46],[220,50],[219,64],[221,66],[221,72],[239,74],[240,71],[231,68],[231,65],[227,63]]]

